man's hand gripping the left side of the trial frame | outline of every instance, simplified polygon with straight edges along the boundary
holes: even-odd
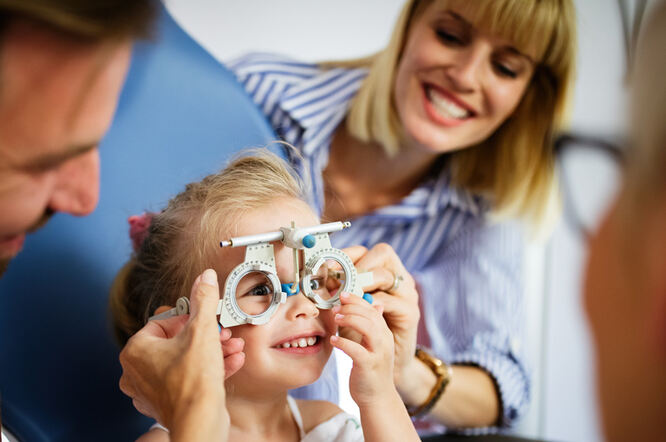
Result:
[[[242,341],[229,341],[226,331],[220,347],[218,301],[217,276],[206,270],[192,287],[190,315],[148,322],[120,353],[120,389],[174,440],[226,440],[225,362],[236,371],[244,354]],[[226,361],[222,349],[233,352]]]

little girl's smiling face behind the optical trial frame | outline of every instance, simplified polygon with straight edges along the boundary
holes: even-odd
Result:
[[[290,226],[292,221],[297,227],[319,224],[307,204],[292,198],[282,198],[250,211],[241,220],[230,236],[276,231]],[[293,282],[292,249],[279,242],[272,244],[280,282]],[[216,268],[221,287],[244,255],[245,247],[221,250]],[[252,288],[248,293],[248,296],[261,296],[262,291]],[[230,392],[265,396],[271,391],[282,392],[314,382],[331,355],[330,337],[336,330],[330,310],[319,310],[302,292],[288,297],[267,324],[234,327],[233,336],[245,340],[245,365],[227,381],[233,385]]]

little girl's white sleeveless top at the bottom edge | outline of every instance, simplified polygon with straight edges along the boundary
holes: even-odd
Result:
[[[362,442],[363,429],[360,422],[351,414],[341,412],[314,427],[309,433],[303,430],[303,418],[296,400],[287,396],[287,404],[298,427],[301,442]],[[156,423],[150,429],[169,430]]]

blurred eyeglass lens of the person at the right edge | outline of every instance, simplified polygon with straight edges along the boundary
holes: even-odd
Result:
[[[624,151],[592,136],[564,134],[555,141],[565,217],[584,238],[596,230],[622,178]]]

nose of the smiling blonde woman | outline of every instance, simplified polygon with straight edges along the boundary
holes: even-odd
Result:
[[[490,48],[480,41],[457,51],[453,63],[446,70],[457,92],[474,92],[480,87],[488,59]]]

